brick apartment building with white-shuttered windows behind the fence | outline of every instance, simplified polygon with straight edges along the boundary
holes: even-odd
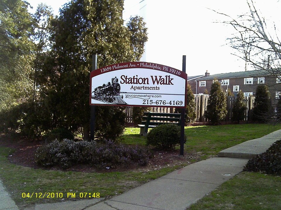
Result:
[[[271,75],[264,70],[241,71],[209,76],[206,74],[203,77],[195,79],[196,88],[195,90],[194,88],[192,89],[193,93],[203,94],[206,89],[210,92],[211,85],[215,78],[221,83],[224,91],[227,91],[229,88],[234,95],[237,95],[239,90],[241,90],[244,92],[245,96],[255,96],[256,87],[260,84],[268,86],[271,97],[275,98],[281,95],[281,76]]]

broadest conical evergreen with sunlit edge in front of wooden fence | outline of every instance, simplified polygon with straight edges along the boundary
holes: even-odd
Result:
[[[225,119],[226,113],[226,96],[221,89],[221,84],[215,79],[214,83],[211,85],[206,118],[215,125]]]

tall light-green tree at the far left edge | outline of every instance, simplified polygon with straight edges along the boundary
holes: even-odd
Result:
[[[32,96],[33,20],[29,4],[0,0],[0,110]]]

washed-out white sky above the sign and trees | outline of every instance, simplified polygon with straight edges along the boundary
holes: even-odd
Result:
[[[31,6],[46,3],[58,15],[59,8],[68,0],[27,0]],[[231,53],[226,38],[234,30],[217,21],[227,20],[210,9],[231,17],[249,11],[246,0],[125,0],[124,20],[140,15],[139,8],[146,4],[145,22],[148,27],[146,62],[158,63],[181,70],[182,55],[186,55],[188,76],[245,71],[245,62]],[[231,3],[230,3],[231,2]],[[278,0],[257,0],[256,7],[264,17],[278,26],[280,17]],[[276,14],[276,16],[274,16]],[[268,22],[269,22],[268,21]],[[268,23],[267,22],[267,23]],[[253,69],[249,69],[253,70]]]

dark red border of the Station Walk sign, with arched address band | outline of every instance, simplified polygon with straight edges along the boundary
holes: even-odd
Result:
[[[110,68],[111,67],[111,68]],[[181,78],[184,78],[185,82],[185,102],[184,106],[148,106],[148,105],[124,105],[124,106],[137,106],[137,107],[170,107],[170,108],[185,108],[186,107],[186,95],[187,95],[187,74],[184,71],[180,71],[178,69],[168,67],[165,65],[161,64],[155,64],[155,63],[148,63],[148,62],[124,62],[124,63],[117,63],[117,64],[112,64],[108,66],[104,66],[101,68],[98,68],[94,71],[90,72],[90,106],[120,106],[119,104],[92,104],[91,99],[92,99],[92,77],[104,74],[107,72],[111,71],[116,71],[116,70],[121,70],[121,69],[153,69],[157,71],[164,71],[169,74],[173,74],[175,76],[179,76]]]

